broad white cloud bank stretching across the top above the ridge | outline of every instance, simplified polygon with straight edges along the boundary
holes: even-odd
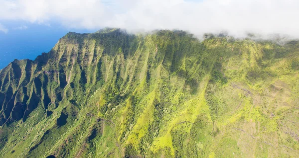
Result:
[[[299,0],[0,0],[0,20],[70,28],[130,31],[182,29],[197,35],[227,31],[299,38]]]

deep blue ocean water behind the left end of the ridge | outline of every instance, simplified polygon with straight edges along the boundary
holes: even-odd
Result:
[[[67,29],[59,25],[3,23],[9,30],[0,32],[0,69],[6,67],[14,59],[34,60],[43,52],[49,52],[69,31],[90,33],[95,30]],[[20,29],[19,26],[26,26]]]

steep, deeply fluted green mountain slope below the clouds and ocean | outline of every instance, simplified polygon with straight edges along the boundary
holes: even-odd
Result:
[[[0,157],[299,157],[299,42],[68,33],[0,71]]]

